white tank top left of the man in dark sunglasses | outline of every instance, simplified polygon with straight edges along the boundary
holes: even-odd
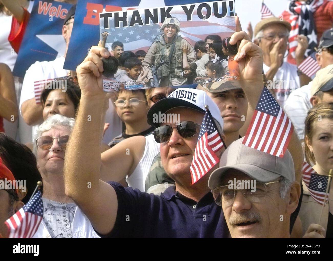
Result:
[[[135,168],[131,176],[126,177],[126,182],[129,187],[137,188],[140,191],[145,191],[145,182],[152,166],[155,156],[160,152],[160,144],[155,141],[154,135],[150,134],[145,137],[146,145],[144,154]]]

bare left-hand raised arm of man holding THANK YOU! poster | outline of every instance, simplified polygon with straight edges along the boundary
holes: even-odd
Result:
[[[100,234],[114,227],[118,200],[115,190],[100,180],[102,114],[106,93],[103,91],[103,64],[100,57],[109,52],[93,46],[86,59],[77,67],[81,88],[80,107],[66,149],[66,195],[80,207]]]

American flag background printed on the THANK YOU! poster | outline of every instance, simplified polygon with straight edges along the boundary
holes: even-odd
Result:
[[[211,10],[213,10],[212,3],[207,2],[207,4],[211,5]],[[188,9],[190,8],[190,5],[184,6],[187,6]],[[235,32],[236,26],[234,17],[226,16],[223,18],[217,18],[212,13],[207,19],[200,19],[197,16],[197,6],[198,4],[196,4],[196,7],[193,10],[191,21],[187,21],[187,16],[180,5],[173,6],[172,10],[169,12],[172,17],[177,18],[180,22],[180,32],[178,32],[178,35],[187,40],[192,46],[194,46],[197,41],[204,40],[206,36],[211,34],[217,34],[223,39],[231,36]],[[167,6],[165,9],[167,9]],[[141,20],[145,22],[144,9],[138,10],[141,15]],[[228,10],[227,15],[229,14],[229,11],[230,10]],[[132,14],[129,10],[127,10],[127,12],[130,21]],[[120,23],[120,27],[115,28],[114,18],[110,17],[110,29],[104,29],[104,19],[100,19],[100,35],[103,32],[110,33],[106,41],[106,47],[111,50],[112,43],[120,41],[124,44],[124,50],[131,50],[133,52],[137,50],[145,50],[147,52],[155,39],[163,34],[160,31],[163,21],[160,21],[159,12],[160,9],[158,9],[158,23],[154,24],[150,20],[149,25],[139,25],[136,23],[134,26],[123,27],[123,23]],[[151,13],[153,13],[153,8],[151,9]],[[123,14],[119,13],[119,16],[123,16]]]

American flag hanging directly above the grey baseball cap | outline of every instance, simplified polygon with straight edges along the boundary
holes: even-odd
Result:
[[[264,87],[242,143],[282,158],[293,130],[294,127],[283,109]]]

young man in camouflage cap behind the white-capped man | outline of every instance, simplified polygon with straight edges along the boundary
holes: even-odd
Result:
[[[219,82],[199,84],[217,104],[224,121],[223,131],[227,146],[240,138],[239,130],[244,126],[248,102],[239,80],[225,79]]]

